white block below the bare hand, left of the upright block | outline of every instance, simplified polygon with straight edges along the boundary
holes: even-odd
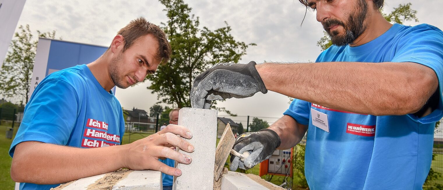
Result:
[[[162,174],[159,171],[132,171],[117,182],[112,190],[163,190]]]

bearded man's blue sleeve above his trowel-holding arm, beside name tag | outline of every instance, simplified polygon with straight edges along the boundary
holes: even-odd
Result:
[[[309,125],[310,104],[311,103],[304,100],[294,99],[283,115],[291,116],[297,123],[302,125]]]

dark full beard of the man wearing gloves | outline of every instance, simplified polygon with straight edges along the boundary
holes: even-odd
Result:
[[[330,36],[332,44],[336,46],[344,46],[352,43],[366,29],[363,22],[366,19],[368,4],[365,0],[358,0],[359,3],[355,7],[355,12],[351,13],[346,20],[346,24],[337,19],[328,19],[323,23],[323,28]],[[340,35],[337,30],[330,32],[329,27],[340,25],[344,28],[345,33]]]

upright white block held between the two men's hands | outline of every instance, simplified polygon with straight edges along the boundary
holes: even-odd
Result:
[[[189,165],[177,164],[182,175],[174,178],[173,190],[212,190],[214,185],[215,143],[217,140],[217,110],[183,107],[179,111],[179,125],[187,127],[194,146]]]

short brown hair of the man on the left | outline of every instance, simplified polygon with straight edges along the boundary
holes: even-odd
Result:
[[[134,41],[141,36],[152,34],[159,42],[157,55],[155,55],[156,58],[161,60],[162,64],[166,63],[171,58],[171,45],[166,38],[166,34],[157,25],[148,22],[143,17],[131,20],[131,22],[129,22],[124,28],[121,28],[117,34],[123,36],[123,51],[126,51],[131,47]]]

